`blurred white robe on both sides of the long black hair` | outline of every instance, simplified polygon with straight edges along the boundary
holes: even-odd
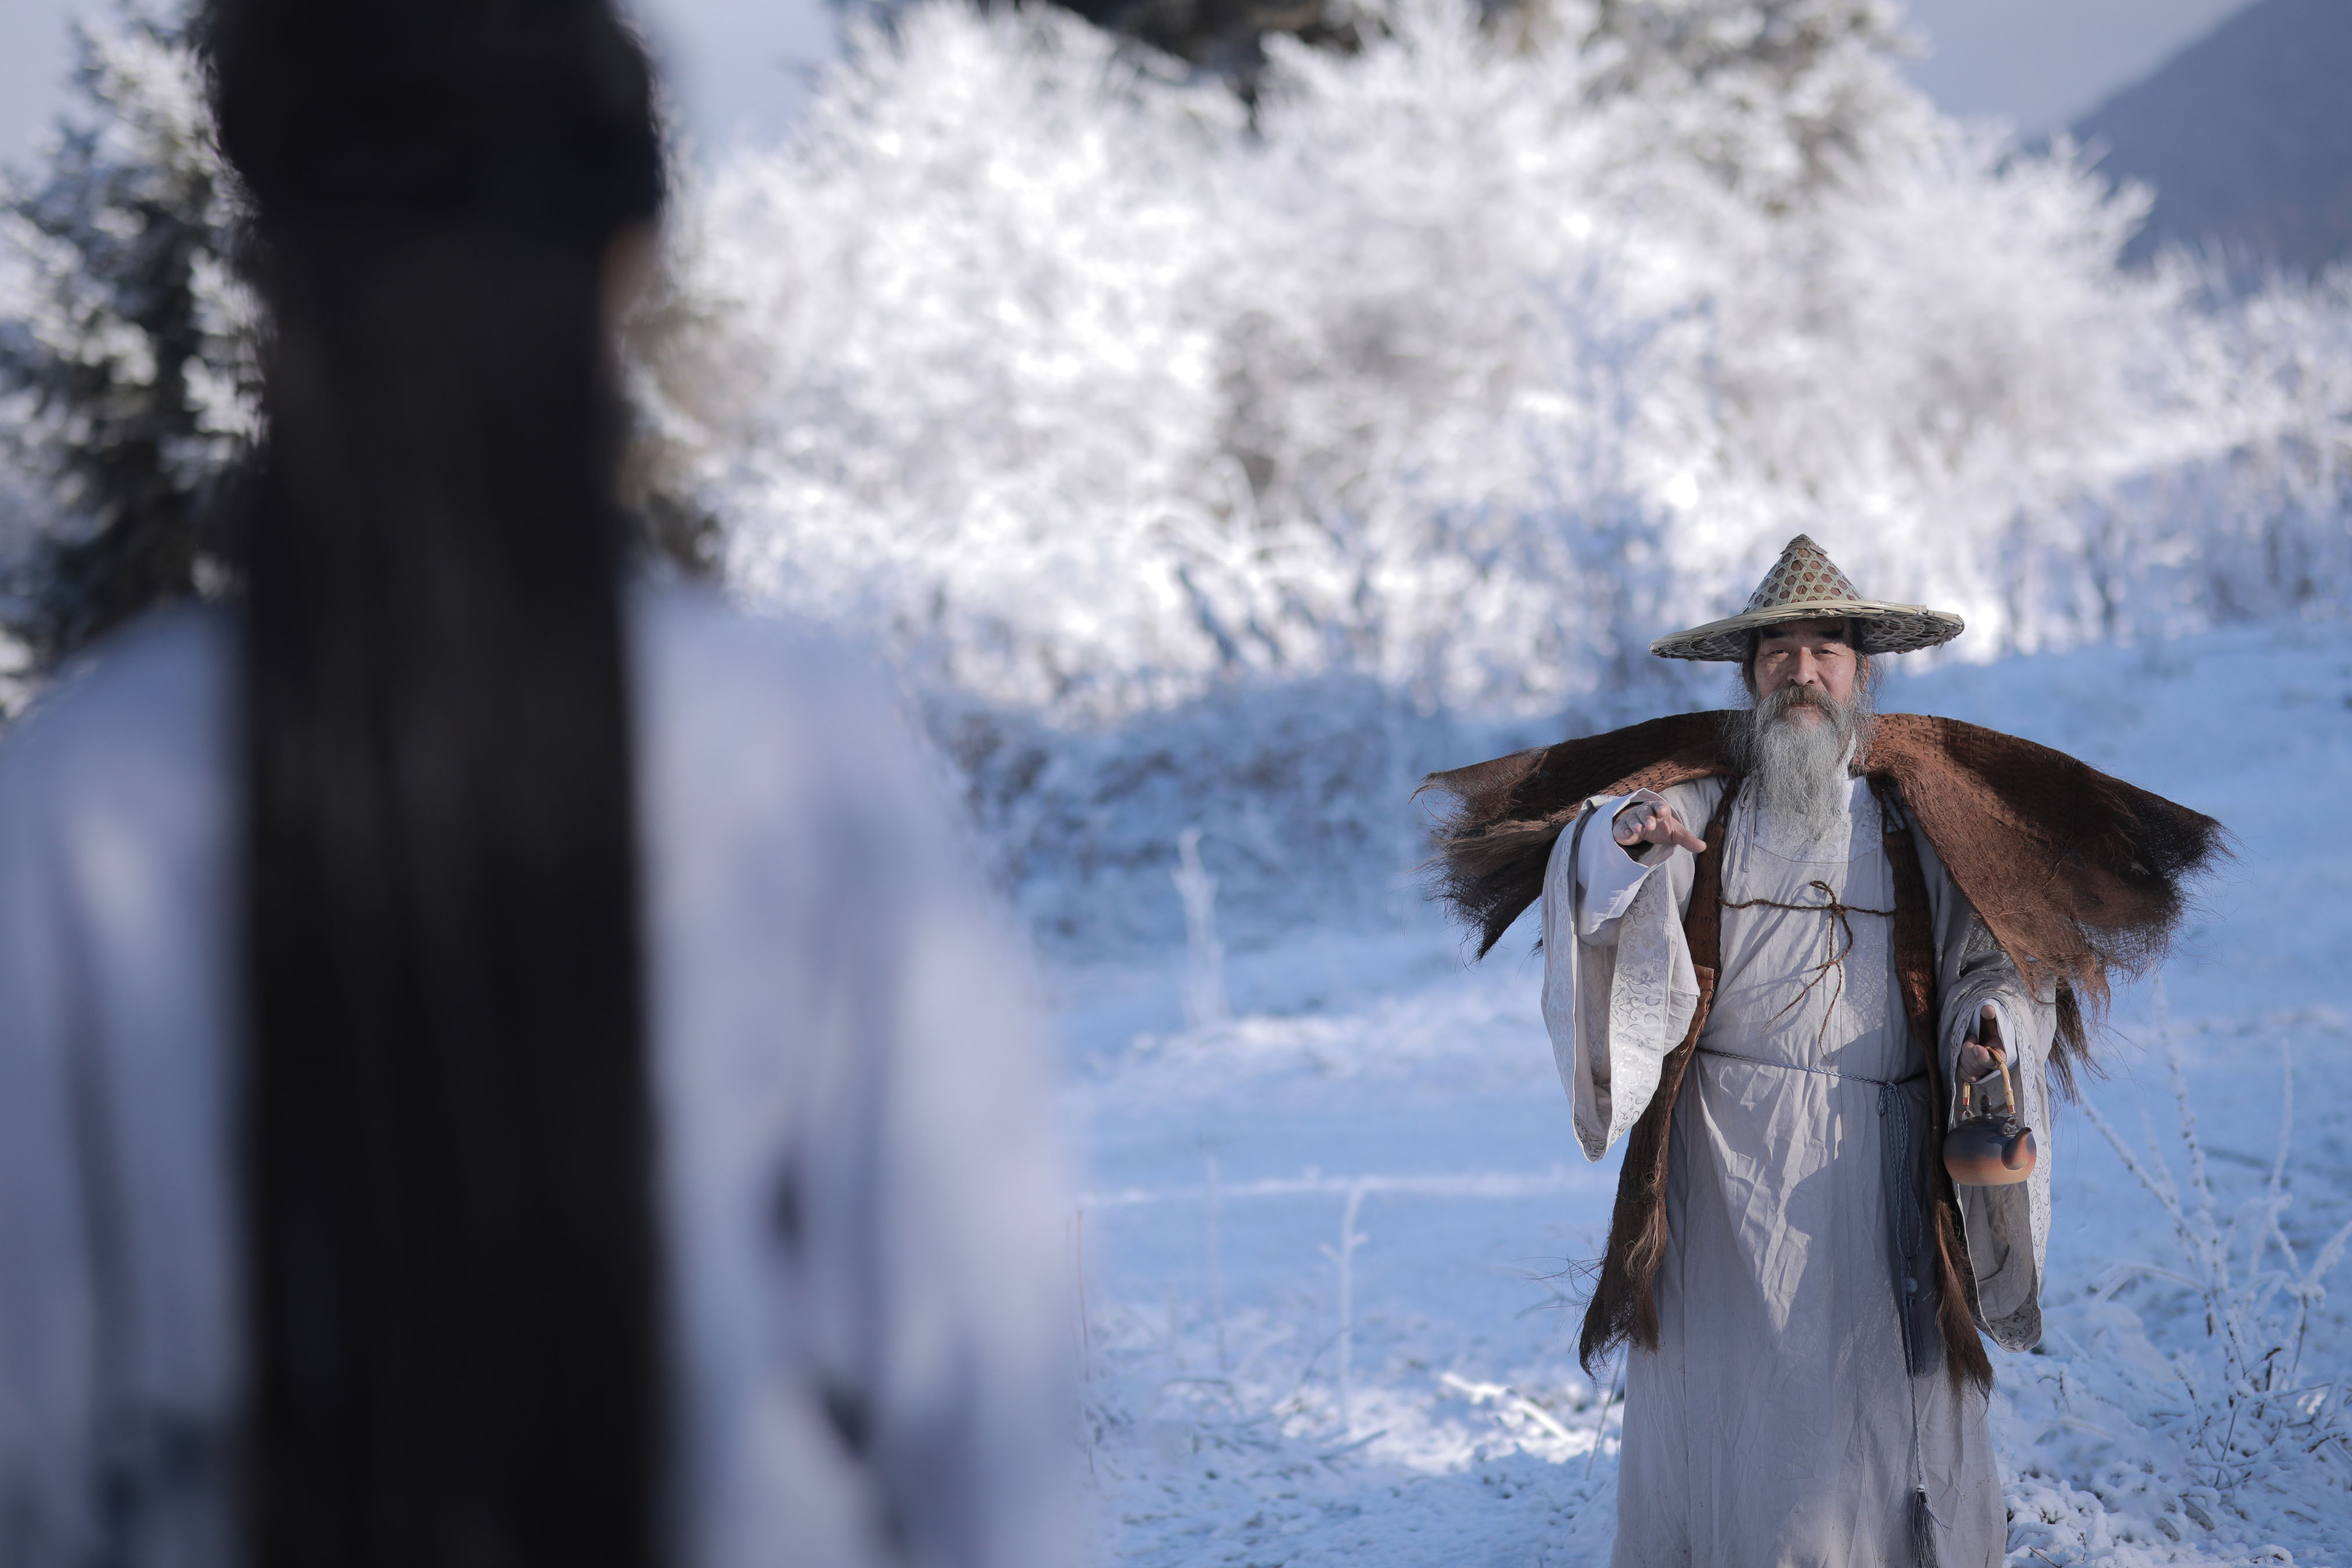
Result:
[[[689,590],[630,642],[680,1561],[1058,1566],[1023,971],[870,682]],[[165,611],[0,741],[9,1568],[238,1561],[235,663],[226,614]]]

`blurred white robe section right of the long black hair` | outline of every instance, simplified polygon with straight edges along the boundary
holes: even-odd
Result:
[[[647,614],[682,1559],[1063,1568],[1070,1201],[1025,966],[887,693]]]

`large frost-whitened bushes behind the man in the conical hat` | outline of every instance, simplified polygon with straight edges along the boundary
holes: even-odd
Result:
[[[1392,879],[1414,771],[1719,701],[1646,644],[1799,529],[1962,656],[2333,614],[2345,282],[2119,275],[2143,200],[1896,42],[1399,0],[1270,40],[1244,113],[1056,9],[913,7],[682,202],[668,482],[743,592],[894,651],[1061,931],[1171,936],[1185,825],[1228,900]]]

